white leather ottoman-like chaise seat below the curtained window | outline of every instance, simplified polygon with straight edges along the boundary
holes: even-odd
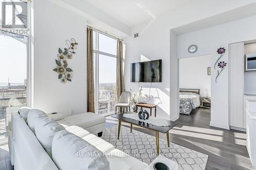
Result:
[[[54,120],[57,120],[57,123],[61,124],[63,127],[79,126],[92,134],[98,134],[99,137],[105,129],[106,118],[104,116],[92,112],[86,112],[63,118],[60,114],[61,113],[48,115]]]

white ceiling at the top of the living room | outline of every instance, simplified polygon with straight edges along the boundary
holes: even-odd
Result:
[[[178,9],[211,9],[227,11],[255,2],[255,0],[84,0],[114,17],[126,26],[133,27],[144,21]],[[192,15],[192,14],[189,14]]]

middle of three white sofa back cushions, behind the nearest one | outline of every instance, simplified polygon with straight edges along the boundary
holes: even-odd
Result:
[[[35,135],[47,154],[52,158],[52,140],[56,132],[65,128],[50,117],[40,117],[35,124]]]

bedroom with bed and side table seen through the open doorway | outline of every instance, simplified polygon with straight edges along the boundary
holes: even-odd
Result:
[[[211,56],[179,59],[179,115],[210,117]],[[200,114],[199,114],[200,115]]]

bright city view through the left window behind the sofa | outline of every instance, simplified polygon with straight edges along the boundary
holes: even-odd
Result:
[[[0,35],[0,142],[8,138],[11,113],[27,105],[27,37]]]

